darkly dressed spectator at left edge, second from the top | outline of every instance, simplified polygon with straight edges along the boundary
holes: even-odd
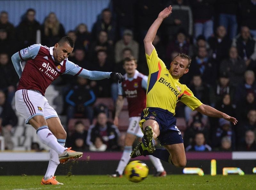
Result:
[[[7,31],[5,29],[0,29],[0,53],[7,53],[10,57],[16,48],[12,39],[8,39]]]

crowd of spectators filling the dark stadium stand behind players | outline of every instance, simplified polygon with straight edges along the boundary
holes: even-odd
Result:
[[[28,9],[14,27],[8,21],[8,12],[2,11],[0,133],[6,139],[5,148],[12,150],[11,136],[17,125],[11,104],[19,77],[10,57],[35,44],[37,30],[41,31],[41,44],[48,47],[65,35],[72,36],[75,48],[68,60],[85,69],[124,74],[122,60],[133,56],[138,60],[138,70],[148,75],[143,38],[158,13],[169,4],[172,15],[164,20],[153,41],[158,56],[169,69],[178,53],[190,55],[189,72],[180,82],[202,103],[238,120],[234,126],[178,102],[176,117],[186,122],[181,130],[186,151],[256,151],[256,0],[112,0],[110,7],[97,17],[91,32],[86,23],[77,23],[74,30],[65,31],[65,23],[60,23],[54,12],[39,23],[34,9]],[[79,151],[122,149],[122,135],[111,123],[114,106],[108,107],[104,102],[95,105],[99,98],[111,99],[114,105],[116,83],[63,75],[52,84],[62,98],[55,103],[62,108],[59,114],[67,117],[64,125],[78,118],[73,130],[66,128],[69,145]],[[82,122],[84,118],[88,119],[88,126]]]

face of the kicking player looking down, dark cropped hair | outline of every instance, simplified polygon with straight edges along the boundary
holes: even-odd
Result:
[[[68,43],[55,44],[53,49],[53,58],[56,62],[60,63],[68,57],[73,51]]]

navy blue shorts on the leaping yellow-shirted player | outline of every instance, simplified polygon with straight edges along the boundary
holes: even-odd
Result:
[[[176,126],[176,118],[168,110],[158,107],[145,108],[141,113],[140,128],[147,120],[155,120],[159,125],[160,135],[157,137],[161,145],[183,143],[180,130]]]

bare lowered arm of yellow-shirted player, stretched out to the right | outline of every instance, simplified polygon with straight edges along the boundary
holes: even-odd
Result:
[[[226,113],[220,112],[219,110],[216,110],[215,108],[213,108],[211,106],[202,104],[201,106],[197,107],[195,110],[204,115],[210,116],[210,117],[224,118],[225,120],[232,122],[234,125],[236,125],[236,123],[237,123],[236,118],[231,117],[231,116],[227,115]]]

